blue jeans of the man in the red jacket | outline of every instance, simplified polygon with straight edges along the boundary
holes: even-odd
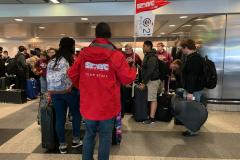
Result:
[[[93,160],[95,137],[99,132],[98,160],[109,160],[114,119],[91,121],[85,119],[86,133],[83,140],[82,160]]]

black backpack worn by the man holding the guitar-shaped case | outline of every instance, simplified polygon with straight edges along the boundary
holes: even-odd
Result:
[[[213,89],[217,86],[217,70],[213,61],[209,60],[207,56],[203,58],[203,73],[205,80],[205,87]]]

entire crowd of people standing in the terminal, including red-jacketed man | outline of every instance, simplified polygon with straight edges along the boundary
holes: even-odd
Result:
[[[123,52],[109,41],[111,30],[108,24],[99,23],[95,35],[89,47],[83,48],[77,56],[75,40],[69,37],[60,40],[57,50],[36,48],[28,54],[26,47],[19,46],[15,56],[18,67],[16,87],[25,90],[26,80],[33,77],[40,81],[41,94],[48,93],[51,97],[60,153],[67,153],[64,126],[69,108],[73,126],[72,147],[83,145],[83,160],[93,159],[97,132],[99,160],[109,159],[114,118],[124,108],[121,106],[124,95],[120,94],[120,89],[131,88],[137,75],[138,87],[142,90],[148,88],[150,114],[144,124],[155,122],[157,95],[169,91],[169,81],[173,90],[183,88],[187,99],[195,97],[200,101],[204,88],[201,55],[191,39],[176,42],[171,54],[164,49],[163,43],[158,43],[154,49],[153,43],[147,40],[143,44],[144,58],[141,60],[134,55],[131,44],[127,44]],[[1,47],[0,53],[1,63],[5,64],[8,53]],[[167,76],[163,80],[159,77],[159,61],[167,66]],[[125,98],[130,96],[125,95]],[[80,139],[82,118],[86,125],[83,142]],[[184,132],[188,136],[196,134],[190,130]]]

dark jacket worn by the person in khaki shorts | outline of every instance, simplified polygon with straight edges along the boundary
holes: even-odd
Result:
[[[156,51],[146,53],[142,66],[142,83],[147,84],[150,80],[159,79],[159,64]]]

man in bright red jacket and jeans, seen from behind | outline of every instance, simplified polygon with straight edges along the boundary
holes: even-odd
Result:
[[[108,160],[114,118],[120,112],[120,84],[132,83],[136,69],[130,68],[124,55],[108,41],[108,24],[99,23],[95,34],[96,39],[80,52],[68,76],[80,89],[80,111],[86,122],[82,159],[93,160],[99,132],[98,159]]]

